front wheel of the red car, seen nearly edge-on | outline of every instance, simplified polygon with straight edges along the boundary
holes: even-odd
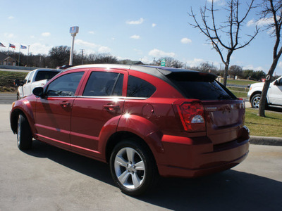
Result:
[[[24,115],[18,115],[18,132],[17,132],[18,148],[21,151],[28,150],[32,147],[32,132],[30,124]]]

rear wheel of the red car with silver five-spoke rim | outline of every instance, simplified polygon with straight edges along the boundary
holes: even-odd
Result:
[[[117,144],[110,158],[111,177],[129,196],[149,191],[156,183],[157,165],[152,153],[141,143],[127,139]]]

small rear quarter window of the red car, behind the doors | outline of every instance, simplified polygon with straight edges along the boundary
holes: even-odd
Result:
[[[128,77],[128,97],[149,98],[155,91],[156,87],[149,82],[131,75]]]

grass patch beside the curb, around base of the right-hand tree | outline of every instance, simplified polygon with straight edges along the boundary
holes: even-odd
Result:
[[[246,108],[245,124],[251,136],[271,136],[282,138],[282,113],[265,111],[266,117],[259,117],[258,110]]]

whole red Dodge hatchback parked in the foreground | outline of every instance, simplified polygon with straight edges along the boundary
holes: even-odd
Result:
[[[144,193],[157,177],[200,177],[246,157],[245,103],[216,75],[145,65],[81,65],[13,103],[18,148],[32,137],[108,162],[118,188]]]

